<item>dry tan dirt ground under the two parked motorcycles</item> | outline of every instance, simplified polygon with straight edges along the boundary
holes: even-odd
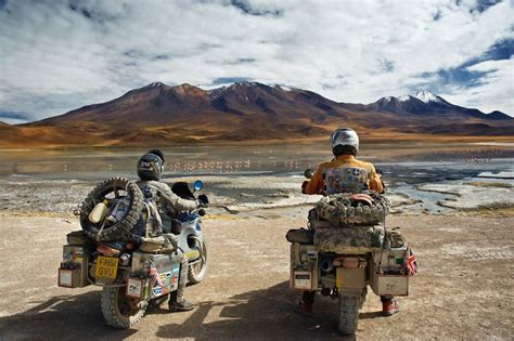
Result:
[[[292,310],[284,235],[304,224],[301,214],[262,215],[269,219],[206,220],[208,277],[187,290],[197,307],[151,309],[131,330],[105,326],[98,288],[56,286],[74,220],[0,217],[0,339],[342,338],[335,301],[317,298],[312,317]],[[412,241],[421,271],[397,315],[382,317],[378,298],[369,293],[357,339],[512,340],[514,218],[394,217],[389,226],[401,226]]]

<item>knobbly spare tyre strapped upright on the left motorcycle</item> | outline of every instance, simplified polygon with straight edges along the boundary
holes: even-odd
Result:
[[[125,194],[124,196],[119,195],[121,191]],[[93,224],[89,221],[88,215],[98,202],[125,196],[130,199],[130,205],[121,219],[112,225],[105,224],[103,228],[100,224]],[[98,241],[130,241],[129,232],[138,223],[143,206],[143,193],[136,182],[125,178],[112,178],[97,185],[83,200],[80,225],[89,237]]]

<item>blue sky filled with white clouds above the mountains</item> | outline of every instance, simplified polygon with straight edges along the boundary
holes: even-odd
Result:
[[[514,0],[0,0],[0,121],[244,80],[514,116],[513,53]]]

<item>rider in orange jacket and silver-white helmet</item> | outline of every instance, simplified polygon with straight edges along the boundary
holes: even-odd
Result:
[[[380,174],[370,162],[356,159],[359,152],[359,136],[350,128],[335,130],[331,137],[332,153],[335,158],[319,165],[310,181],[305,181],[301,192],[305,194],[331,195],[334,193],[358,193],[372,189],[384,193]],[[316,291],[304,291],[299,299],[298,310],[312,312]],[[382,296],[382,314],[390,316],[400,311],[400,305],[390,296]]]

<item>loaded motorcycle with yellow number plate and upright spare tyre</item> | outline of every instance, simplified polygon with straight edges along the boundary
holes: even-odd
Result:
[[[193,185],[194,192],[202,187],[200,180]],[[196,199],[184,182],[176,183],[171,191],[181,198]],[[207,206],[207,196],[197,199],[201,206]],[[189,260],[188,281],[196,284],[205,278],[204,209],[181,212],[174,220],[180,225],[178,235],[152,237],[150,225],[158,214],[154,202],[144,199],[136,182],[114,178],[91,191],[75,213],[80,217],[82,231],[67,235],[59,286],[101,286],[101,307],[107,325],[134,326],[150,304],[165,301],[178,289],[179,249]]]

